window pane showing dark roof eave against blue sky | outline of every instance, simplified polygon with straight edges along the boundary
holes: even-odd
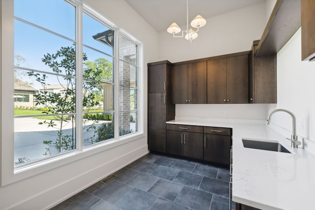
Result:
[[[83,44],[114,55],[114,31],[83,13]]]

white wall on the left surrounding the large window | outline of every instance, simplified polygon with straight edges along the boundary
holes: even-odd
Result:
[[[2,1],[4,0],[0,2]],[[124,0],[86,0],[86,2],[143,42],[144,81],[142,82],[145,85],[140,91],[147,95],[147,63],[158,60],[158,33]],[[4,71],[4,69],[0,70]],[[0,209],[47,209],[147,153],[146,97],[143,106],[145,132],[141,138],[0,187]],[[0,110],[3,107],[5,106],[0,107]],[[7,139],[0,139],[0,141],[7,141]]]

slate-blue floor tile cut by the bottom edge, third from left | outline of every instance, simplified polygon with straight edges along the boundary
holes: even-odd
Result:
[[[156,195],[134,188],[120,199],[115,206],[123,210],[148,210],[157,199],[158,196]]]

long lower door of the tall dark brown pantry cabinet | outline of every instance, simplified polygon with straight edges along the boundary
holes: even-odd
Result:
[[[149,93],[148,144],[149,150],[166,152],[165,93]]]

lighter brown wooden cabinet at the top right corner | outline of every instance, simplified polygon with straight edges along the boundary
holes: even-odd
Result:
[[[315,0],[301,0],[302,60],[315,60]]]

